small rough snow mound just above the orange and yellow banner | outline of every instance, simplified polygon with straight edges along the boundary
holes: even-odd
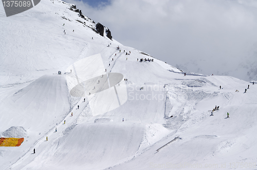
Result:
[[[22,126],[12,126],[4,131],[1,136],[5,138],[24,138],[27,136],[27,131]]]

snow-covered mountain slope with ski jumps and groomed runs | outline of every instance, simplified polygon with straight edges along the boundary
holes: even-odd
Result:
[[[0,11],[0,134],[25,139],[1,169],[256,168],[257,84],[185,76],[63,1]]]

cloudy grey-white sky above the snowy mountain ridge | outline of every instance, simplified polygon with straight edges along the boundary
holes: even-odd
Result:
[[[183,71],[245,80],[247,71],[257,74],[257,1],[65,2],[108,27],[121,44]]]

